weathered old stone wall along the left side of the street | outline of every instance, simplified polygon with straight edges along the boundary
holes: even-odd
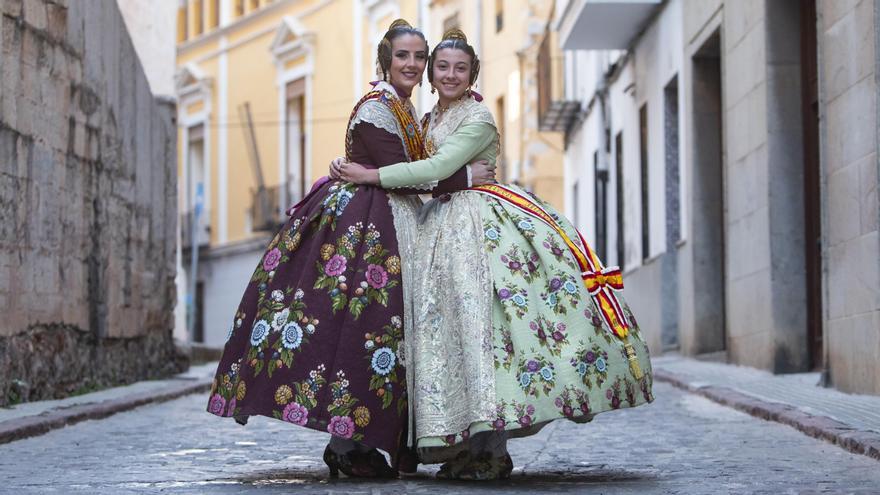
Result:
[[[115,2],[0,0],[0,405],[167,375],[173,103]]]

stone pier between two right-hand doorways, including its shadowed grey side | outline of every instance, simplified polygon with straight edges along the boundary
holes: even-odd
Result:
[[[799,10],[724,3],[727,346],[774,372],[809,367]]]

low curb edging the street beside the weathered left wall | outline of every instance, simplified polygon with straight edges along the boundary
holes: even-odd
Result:
[[[42,414],[11,419],[0,423],[0,444],[42,435],[87,419],[101,419],[116,413],[129,411],[147,404],[166,402],[211,389],[212,379],[181,380],[162,390],[126,395],[118,399],[79,404],[66,408],[51,409]]]

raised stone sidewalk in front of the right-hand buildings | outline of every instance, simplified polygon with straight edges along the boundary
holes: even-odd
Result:
[[[878,396],[820,387],[819,373],[773,375],[674,355],[652,364],[658,380],[880,460]]]

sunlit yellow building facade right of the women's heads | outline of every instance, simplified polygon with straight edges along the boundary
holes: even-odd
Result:
[[[499,180],[516,182],[563,209],[563,133],[538,128],[538,55],[552,0],[434,0],[432,46],[458,27],[480,56],[476,90],[501,134]],[[554,55],[562,56],[558,47]]]

